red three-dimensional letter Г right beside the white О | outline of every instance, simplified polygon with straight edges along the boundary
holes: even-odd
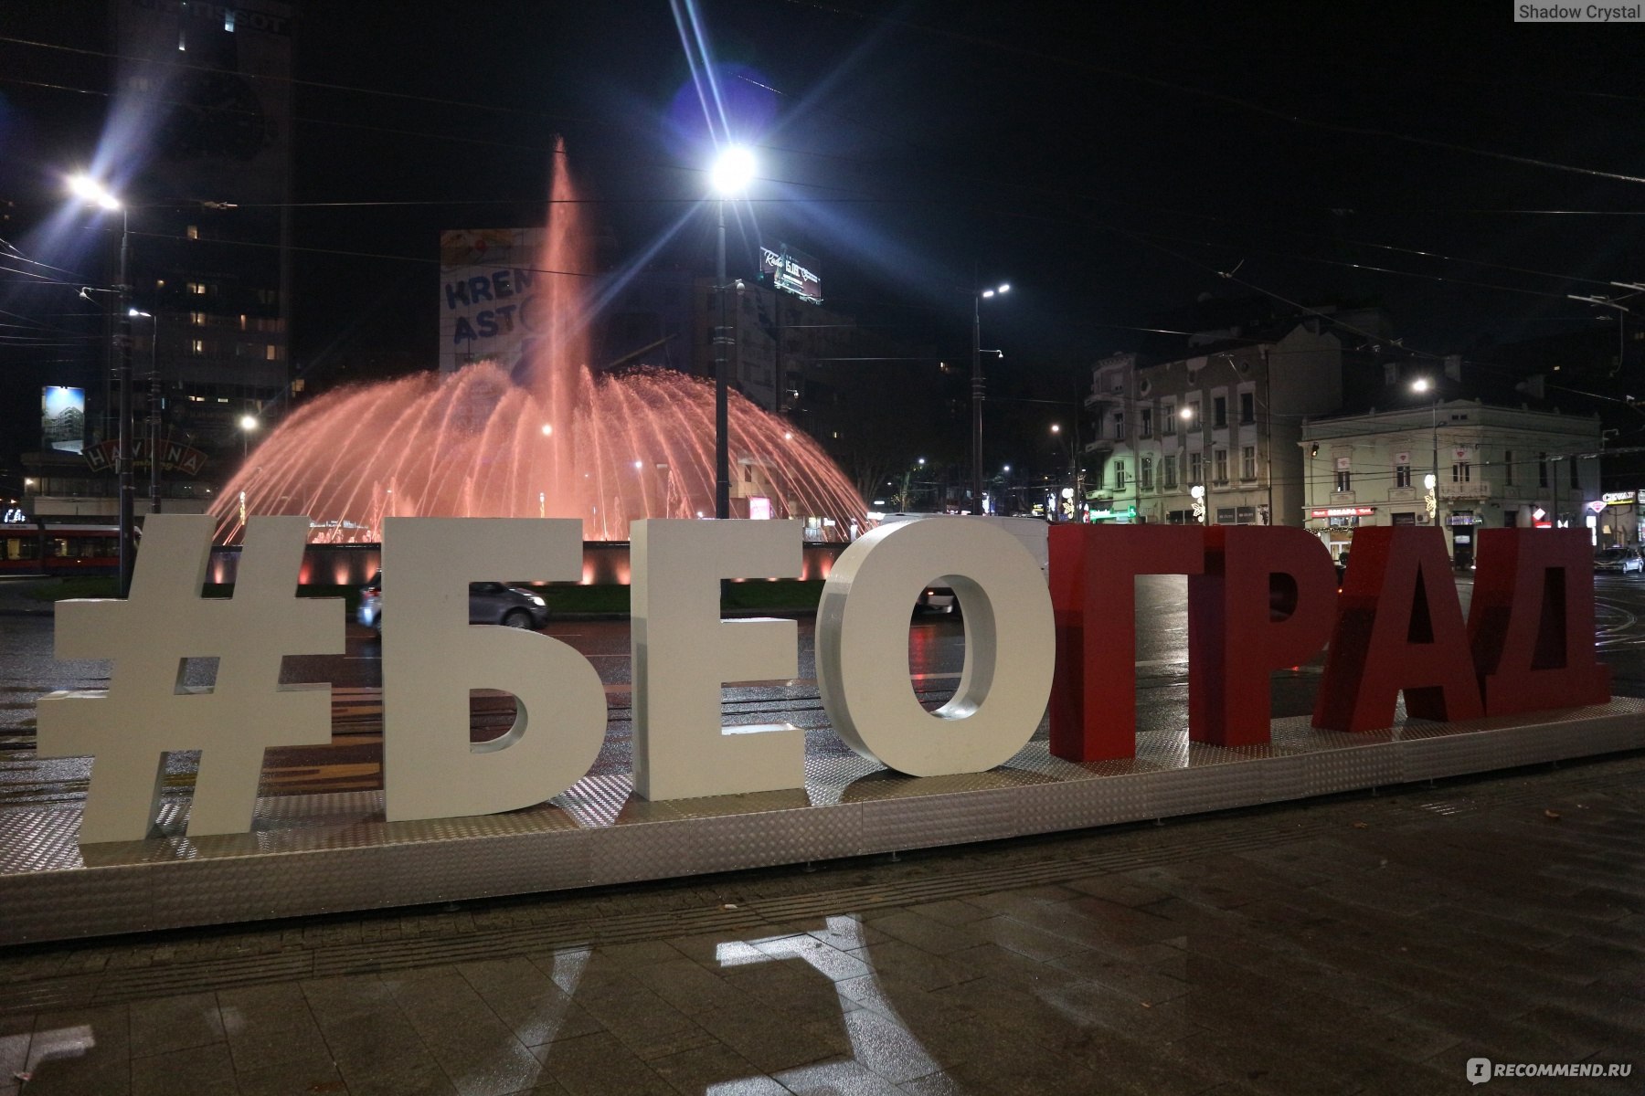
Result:
[[[1051,526],[1051,753],[1137,756],[1137,575],[1196,575],[1199,526]]]

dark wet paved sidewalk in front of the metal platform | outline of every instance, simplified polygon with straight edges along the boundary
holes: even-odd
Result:
[[[1642,1093],[1645,756],[0,951],[0,1096]],[[1471,1058],[1632,1066],[1497,1078]],[[26,1081],[21,1078],[28,1078]]]

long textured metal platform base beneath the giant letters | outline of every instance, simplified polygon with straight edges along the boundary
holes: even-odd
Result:
[[[811,756],[806,787],[650,804],[591,776],[507,815],[383,822],[380,792],[270,797],[252,833],[76,845],[77,808],[0,813],[0,943],[528,894],[1272,804],[1645,748],[1645,700],[1387,731],[1273,725],[1222,749],[1150,731],[1133,761],[1071,764],[1043,741],[962,777]]]

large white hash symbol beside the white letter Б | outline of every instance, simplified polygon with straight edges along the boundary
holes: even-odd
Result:
[[[331,684],[280,684],[281,656],[344,651],[342,601],[296,598],[309,519],[250,521],[232,598],[201,596],[214,526],[150,516],[130,598],[58,605],[59,659],[114,659],[107,690],[39,700],[39,756],[94,759],[82,845],[148,836],[169,751],[201,751],[201,836],[252,828],[265,749],[331,741]],[[191,657],[219,659],[215,685],[183,685]]]

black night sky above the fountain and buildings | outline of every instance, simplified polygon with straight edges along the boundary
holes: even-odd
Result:
[[[433,366],[436,233],[538,222],[556,135],[604,261],[658,248],[706,273],[702,58],[676,15],[762,158],[742,223],[814,255],[841,311],[944,355],[967,345],[964,289],[1010,281],[984,343],[1023,383],[1073,385],[1202,292],[1377,302],[1406,347],[1467,353],[1591,327],[1568,294],[1645,279],[1637,25],[1517,26],[1508,5],[1217,12],[304,3],[294,361]],[[100,13],[7,5],[0,35],[76,41]],[[18,82],[35,54],[0,43],[7,238],[58,200],[53,161],[104,102]],[[752,243],[732,273],[752,274]]]

